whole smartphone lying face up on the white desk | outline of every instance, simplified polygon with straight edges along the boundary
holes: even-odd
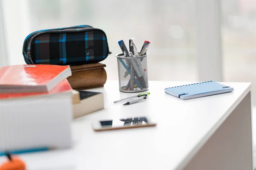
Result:
[[[123,119],[103,120],[92,123],[92,127],[95,131],[147,127],[155,125],[156,123],[149,117],[130,117]]]

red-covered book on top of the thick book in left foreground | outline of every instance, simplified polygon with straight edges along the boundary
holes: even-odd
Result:
[[[0,68],[0,93],[49,92],[69,76],[69,65],[9,65]]]

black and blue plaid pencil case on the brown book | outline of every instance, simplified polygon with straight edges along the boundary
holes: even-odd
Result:
[[[108,54],[105,32],[87,25],[35,31],[23,43],[27,64],[81,65],[100,62]]]

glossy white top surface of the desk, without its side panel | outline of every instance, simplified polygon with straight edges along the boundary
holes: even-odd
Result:
[[[189,100],[164,92],[187,83],[192,82],[150,81],[145,101],[122,105],[113,101],[140,93],[121,93],[118,81],[107,81],[104,88],[88,90],[104,93],[105,108],[74,120],[73,148],[20,157],[28,170],[182,169],[251,90],[250,83],[225,82],[233,92]],[[91,128],[93,121],[131,116],[150,116],[157,125],[102,132]],[[4,160],[0,157],[0,163]]]

